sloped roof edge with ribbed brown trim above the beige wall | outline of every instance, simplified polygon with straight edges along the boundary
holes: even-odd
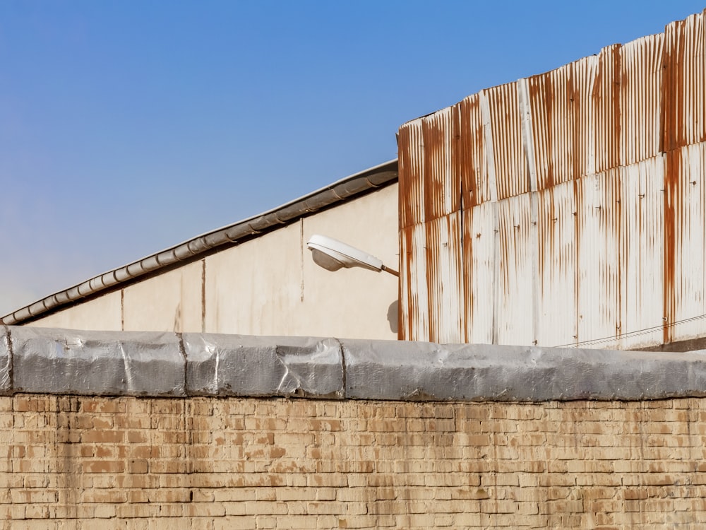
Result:
[[[256,216],[238,221],[211,232],[184,241],[179,245],[164,249],[156,254],[133,261],[130,264],[107,271],[68,289],[37,300],[0,319],[0,324],[17,325],[42,314],[73,304],[78,300],[101,291],[114,289],[122,283],[161,269],[174,266],[181,261],[190,261],[217,247],[236,244],[246,237],[268,232],[279,226],[291,223],[311,213],[321,211],[334,204],[355,199],[376,188],[385,187],[397,181],[397,159],[370,167],[349,177],[333,182],[315,192],[304,195],[282,206],[265,211]]]

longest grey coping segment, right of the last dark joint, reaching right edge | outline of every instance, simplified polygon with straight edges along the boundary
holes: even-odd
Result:
[[[351,399],[570,401],[706,396],[706,351],[343,341]]]

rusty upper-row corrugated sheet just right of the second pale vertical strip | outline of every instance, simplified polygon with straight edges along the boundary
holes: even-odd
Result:
[[[591,90],[596,57],[527,78],[539,189],[577,179],[592,169]]]

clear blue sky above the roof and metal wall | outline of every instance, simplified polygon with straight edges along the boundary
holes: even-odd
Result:
[[[703,1],[0,1],[0,316]]]

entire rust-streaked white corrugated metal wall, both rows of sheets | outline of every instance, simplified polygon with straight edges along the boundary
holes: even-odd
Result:
[[[400,338],[706,336],[706,11],[404,124]]]

